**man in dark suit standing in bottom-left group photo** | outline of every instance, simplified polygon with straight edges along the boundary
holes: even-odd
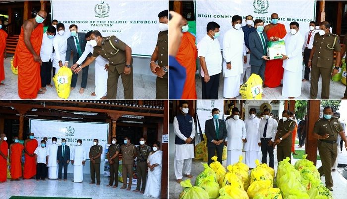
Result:
[[[61,140],[61,146],[58,146],[57,162],[59,164],[58,179],[62,177],[62,167],[64,167],[64,181],[67,180],[67,164],[70,162],[70,147],[66,146],[66,139]]]

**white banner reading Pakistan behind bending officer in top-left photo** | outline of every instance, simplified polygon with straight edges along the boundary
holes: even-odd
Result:
[[[159,33],[158,14],[168,1],[51,1],[52,19],[78,26],[79,32],[99,30],[103,37],[115,35],[134,56],[151,56]]]

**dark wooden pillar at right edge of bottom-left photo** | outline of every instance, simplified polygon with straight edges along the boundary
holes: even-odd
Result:
[[[164,101],[164,117],[163,117],[163,135],[168,136],[169,124],[169,103],[168,100]],[[160,191],[160,196],[162,199],[168,198],[168,143],[162,143],[162,151],[163,151],[163,167],[162,167],[162,186]]]

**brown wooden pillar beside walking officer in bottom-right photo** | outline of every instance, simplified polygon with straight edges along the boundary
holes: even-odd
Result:
[[[320,100],[308,100],[305,153],[308,154],[306,159],[314,165],[317,164],[317,139],[313,137],[313,128],[319,119],[319,112]]]

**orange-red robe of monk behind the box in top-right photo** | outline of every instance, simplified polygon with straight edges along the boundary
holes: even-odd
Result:
[[[278,23],[266,32],[268,39],[270,37],[284,38],[286,36],[286,28],[283,24]],[[264,84],[270,88],[275,88],[281,85],[281,80],[283,78],[283,60],[275,59],[266,62],[265,67],[265,81]]]

